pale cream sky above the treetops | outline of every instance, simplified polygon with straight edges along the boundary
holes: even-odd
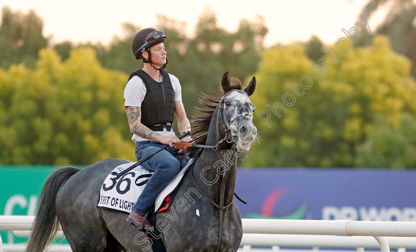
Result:
[[[255,20],[264,17],[269,32],[265,45],[277,42],[307,41],[312,34],[324,43],[333,43],[344,36],[356,22],[363,23],[358,14],[367,0],[1,0],[13,11],[27,12],[30,8],[44,20],[44,35],[52,35],[52,42],[108,43],[113,35],[121,35],[123,22],[155,27],[156,13],[186,21],[187,33],[192,37],[198,16],[208,6],[217,15],[218,25],[235,31],[242,18]],[[368,19],[373,30],[383,11]],[[167,35],[169,36],[169,35]]]

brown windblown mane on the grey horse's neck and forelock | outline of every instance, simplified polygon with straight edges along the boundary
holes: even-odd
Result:
[[[230,78],[230,86],[225,89],[220,88],[220,92],[223,91],[223,95],[231,90],[242,90],[242,84],[238,78]],[[221,97],[214,95],[208,95],[202,92],[199,95],[198,102],[202,107],[195,107],[196,113],[192,116],[192,138],[196,144],[205,144],[207,142],[208,128],[211,123],[212,115],[214,114],[215,108],[218,105]],[[194,151],[198,148],[190,148],[190,151]]]

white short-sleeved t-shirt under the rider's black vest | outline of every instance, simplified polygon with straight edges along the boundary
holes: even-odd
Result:
[[[175,92],[175,102],[182,100],[181,93],[181,84],[179,83],[178,78],[169,74],[170,82],[172,83],[173,91]],[[160,82],[162,82],[162,75],[160,75]],[[126,88],[124,88],[124,108],[125,107],[142,107],[142,102],[145,99],[146,95],[146,85],[143,80],[134,76],[127,83]],[[166,128],[163,128],[163,131],[157,131],[162,135],[174,135],[173,126],[170,131],[167,131]],[[134,142],[149,141],[149,139],[140,137],[136,134],[133,134],[131,138]]]

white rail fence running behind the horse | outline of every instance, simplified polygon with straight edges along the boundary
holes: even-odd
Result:
[[[0,216],[0,230],[27,236],[33,219],[33,216]],[[416,222],[243,219],[243,233],[243,252],[251,251],[251,246],[272,247],[272,251],[280,247],[380,248],[381,252],[390,252],[390,248],[399,252],[416,249]],[[23,249],[22,244],[3,245],[0,237],[0,252]],[[49,251],[71,250],[55,245]]]

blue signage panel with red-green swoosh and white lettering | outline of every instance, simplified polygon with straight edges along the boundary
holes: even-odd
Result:
[[[416,221],[416,171],[238,169],[243,218]]]

